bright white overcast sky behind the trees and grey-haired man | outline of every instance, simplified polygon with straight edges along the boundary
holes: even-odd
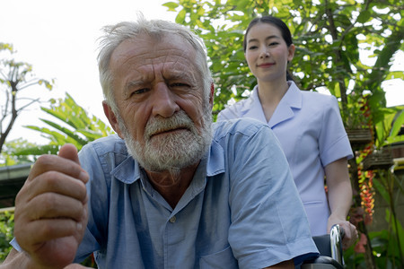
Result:
[[[96,62],[101,28],[136,20],[137,12],[147,19],[174,22],[176,13],[162,6],[166,2],[170,0],[0,0],[0,42],[13,44],[13,57],[31,64],[36,77],[55,79],[52,91],[35,87],[28,88],[24,95],[49,100],[65,98],[68,92],[89,114],[108,122],[102,111]],[[392,69],[404,71],[404,55],[396,58],[399,60],[394,61]],[[383,85],[388,106],[404,104],[404,82],[394,80]],[[39,132],[23,127],[45,126],[40,117],[47,117],[40,105],[22,112],[7,141],[24,137],[46,143]]]

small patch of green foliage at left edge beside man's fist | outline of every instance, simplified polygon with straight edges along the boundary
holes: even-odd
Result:
[[[4,211],[0,213],[0,261],[4,261],[5,257],[11,250],[9,242],[13,239],[14,214],[13,212]]]

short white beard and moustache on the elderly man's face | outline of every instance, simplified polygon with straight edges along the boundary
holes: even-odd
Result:
[[[207,107],[204,109],[200,134],[190,117],[180,110],[170,118],[151,117],[145,126],[145,143],[135,141],[127,132],[122,118],[118,119],[127,152],[149,171],[179,173],[180,169],[198,163],[212,143],[212,116]],[[178,127],[181,129],[158,134],[162,130]]]

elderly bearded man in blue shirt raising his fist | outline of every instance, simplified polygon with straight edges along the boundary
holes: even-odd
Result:
[[[1,268],[294,268],[317,256],[268,126],[212,124],[203,42],[171,22],[105,29],[103,108],[118,135],[42,156]]]

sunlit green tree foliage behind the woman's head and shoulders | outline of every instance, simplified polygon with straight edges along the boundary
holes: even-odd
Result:
[[[355,101],[348,100],[348,94],[365,93],[373,120],[379,122],[380,108],[385,107],[382,81],[403,77],[390,71],[391,57],[403,47],[403,0],[178,0],[163,5],[178,13],[176,22],[196,30],[206,42],[216,87],[214,115],[229,100],[245,98],[256,83],[244,60],[243,32],[252,18],[268,13],[292,31],[296,51],[290,70],[303,90],[327,89],[344,109]],[[376,63],[365,63],[360,49],[373,51]],[[350,122],[358,122],[352,119],[358,112]]]

